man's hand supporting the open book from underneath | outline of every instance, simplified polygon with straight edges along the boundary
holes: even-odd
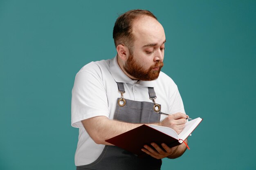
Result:
[[[163,150],[155,143],[151,143],[151,145],[153,146],[153,148],[155,148],[155,150],[148,145],[144,145],[144,148],[142,148],[141,150],[156,159],[162,159],[170,156],[171,154],[173,154],[173,152],[175,152],[175,150],[177,150],[177,147],[178,147],[178,146],[175,146],[173,148],[169,148],[166,144],[161,144],[162,147],[164,148]]]

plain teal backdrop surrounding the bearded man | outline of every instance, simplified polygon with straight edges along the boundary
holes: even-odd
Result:
[[[204,120],[162,170],[256,169],[256,1],[0,0],[0,169],[74,170],[71,90],[79,69],[115,56],[118,14],[152,11],[162,69]]]

